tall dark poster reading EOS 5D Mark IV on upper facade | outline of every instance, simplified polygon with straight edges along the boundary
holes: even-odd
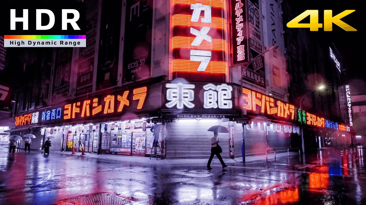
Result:
[[[150,76],[152,19],[153,0],[127,1],[123,82],[136,81]]]

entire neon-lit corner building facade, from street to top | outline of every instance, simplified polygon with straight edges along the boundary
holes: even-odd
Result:
[[[218,137],[227,158],[301,148],[302,128],[309,149],[313,139],[324,147],[330,136],[349,135],[330,117],[333,98],[311,93],[299,104],[302,85],[318,73],[303,63],[323,62],[305,52],[322,50],[292,42],[282,2],[85,3],[87,46],[45,53],[17,92],[11,131],[36,135],[31,148],[50,137],[58,151],[150,156],[154,124],[164,158],[207,158],[213,125],[228,128]]]

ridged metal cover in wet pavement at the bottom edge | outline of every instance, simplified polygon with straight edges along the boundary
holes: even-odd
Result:
[[[57,205],[122,205],[130,200],[109,193],[92,194],[57,202]]]

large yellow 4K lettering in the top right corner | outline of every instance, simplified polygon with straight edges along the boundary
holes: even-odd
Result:
[[[341,18],[356,10],[345,10],[338,15],[333,16],[332,10],[324,10],[324,31],[332,31],[333,23],[341,27],[345,31],[357,31],[354,27],[344,23]],[[310,16],[310,23],[299,23],[307,16]],[[310,31],[318,31],[323,27],[323,24],[319,23],[319,11],[318,10],[306,10],[300,15],[296,16],[290,22],[287,23],[288,28],[310,28]]]

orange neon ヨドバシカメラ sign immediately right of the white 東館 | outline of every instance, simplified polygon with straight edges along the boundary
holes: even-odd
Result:
[[[243,88],[243,103],[244,109],[249,111],[260,111],[261,113],[266,113],[268,115],[277,115],[278,117],[283,117],[293,120],[295,118],[295,107],[294,105],[282,102],[266,96],[264,94],[255,92]]]

